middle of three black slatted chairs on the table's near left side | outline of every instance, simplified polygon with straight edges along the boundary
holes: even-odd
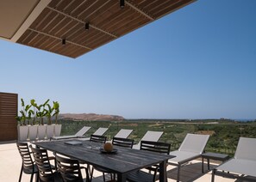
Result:
[[[55,167],[51,165],[50,160],[56,162],[55,157],[49,157],[47,149],[36,149],[32,145],[29,145],[29,147],[34,155],[34,161],[39,171],[38,179],[41,182],[63,181],[58,171],[55,170],[53,172]]]

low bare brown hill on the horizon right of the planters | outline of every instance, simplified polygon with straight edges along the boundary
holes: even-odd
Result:
[[[122,116],[96,114],[96,113],[61,113],[60,119],[72,119],[72,120],[90,120],[90,121],[121,121],[124,118]]]

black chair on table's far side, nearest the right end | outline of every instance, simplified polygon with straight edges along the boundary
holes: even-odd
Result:
[[[171,143],[160,143],[151,141],[141,141],[140,150],[147,150],[155,153],[169,155],[171,149]],[[156,175],[159,172],[159,164],[152,167],[146,167],[149,172],[147,173],[141,170],[128,173],[127,180],[130,182],[150,182],[156,180]]]

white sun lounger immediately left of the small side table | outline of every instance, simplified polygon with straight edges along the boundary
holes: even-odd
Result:
[[[181,143],[179,149],[170,152],[170,155],[176,156],[169,160],[168,164],[178,167],[177,181],[179,181],[180,167],[184,163],[200,157],[208,140],[209,135],[197,135],[189,133],[184,138],[184,141]]]

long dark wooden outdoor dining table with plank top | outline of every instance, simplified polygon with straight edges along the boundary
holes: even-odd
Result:
[[[103,153],[102,143],[80,140],[59,140],[34,143],[37,147],[78,159],[95,167],[103,167],[117,174],[117,181],[126,181],[129,172],[159,164],[159,181],[166,181],[166,163],[175,156],[146,150],[118,148],[116,153]]]

